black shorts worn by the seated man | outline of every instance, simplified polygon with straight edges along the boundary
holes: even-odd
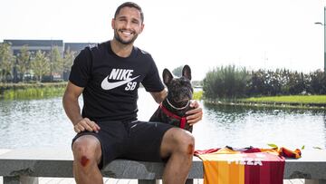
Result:
[[[142,161],[165,159],[160,157],[160,145],[164,133],[172,128],[172,125],[147,121],[97,123],[101,127],[98,133],[82,131],[73,138],[72,143],[82,135],[93,135],[100,140],[102,151],[100,169],[115,159]]]

